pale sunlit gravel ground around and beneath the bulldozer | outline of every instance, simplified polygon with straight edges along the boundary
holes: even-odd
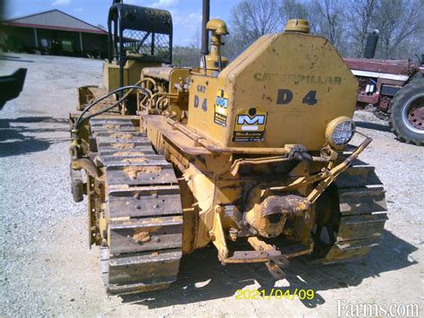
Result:
[[[179,280],[165,291],[107,297],[85,205],[72,202],[68,176],[67,116],[78,86],[101,85],[101,61],[0,56],[0,75],[18,67],[29,69],[24,90],[0,112],[0,315],[331,316],[337,299],[420,304],[422,314],[424,148],[398,142],[367,111],[355,119],[374,138],[361,159],[386,186],[383,245],[360,262],[293,260],[276,287],[312,288],[312,301],[235,300],[237,289],[268,290],[274,282],[263,265],[221,266],[210,247],[184,256]]]

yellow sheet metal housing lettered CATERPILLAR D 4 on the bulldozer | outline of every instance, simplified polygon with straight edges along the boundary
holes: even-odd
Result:
[[[267,35],[217,78],[192,76],[188,125],[223,147],[300,143],[319,150],[326,125],[337,116],[352,117],[357,87],[326,39]]]

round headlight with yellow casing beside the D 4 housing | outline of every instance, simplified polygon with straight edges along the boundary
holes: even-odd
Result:
[[[355,133],[355,123],[346,116],[333,119],[326,126],[326,141],[335,148],[340,148],[350,142]]]

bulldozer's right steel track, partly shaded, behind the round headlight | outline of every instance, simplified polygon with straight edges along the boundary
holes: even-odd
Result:
[[[387,220],[386,191],[374,170],[356,160],[335,179],[339,201],[335,242],[321,262],[359,259],[379,245]]]

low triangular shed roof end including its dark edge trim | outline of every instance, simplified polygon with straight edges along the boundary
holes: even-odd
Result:
[[[50,29],[50,30],[69,30],[76,32],[101,33],[106,34],[94,25],[73,17],[60,10],[50,10],[43,13],[35,13],[21,18],[2,21],[4,25],[26,28]]]

